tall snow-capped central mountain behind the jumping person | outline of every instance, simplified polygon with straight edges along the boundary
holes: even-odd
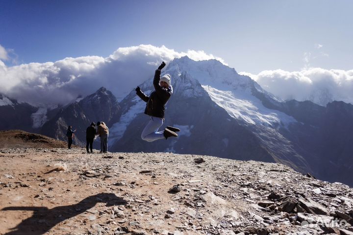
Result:
[[[173,151],[279,161],[311,172],[306,160],[282,134],[297,121],[265,107],[254,91],[271,102],[280,101],[251,78],[237,74],[216,60],[197,62],[187,57],[175,59],[163,73],[171,75],[174,87],[166,108],[165,125],[179,127],[179,137],[158,143],[142,141],[140,135],[148,118],[143,114],[145,103],[133,91],[121,103],[121,120],[112,128],[114,150]],[[141,85],[146,94],[152,88],[152,78]]]

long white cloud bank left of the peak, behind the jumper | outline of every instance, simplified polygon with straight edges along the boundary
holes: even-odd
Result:
[[[35,105],[67,104],[78,95],[89,95],[104,86],[121,100],[134,87],[151,78],[162,61],[169,63],[185,55],[194,60],[217,59],[226,64],[221,58],[203,51],[176,52],[165,46],[151,45],[119,48],[106,58],[68,57],[12,67],[0,61],[0,93]]]

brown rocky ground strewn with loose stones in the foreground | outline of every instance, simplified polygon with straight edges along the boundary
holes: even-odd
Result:
[[[0,149],[1,235],[353,235],[353,189],[274,163]]]

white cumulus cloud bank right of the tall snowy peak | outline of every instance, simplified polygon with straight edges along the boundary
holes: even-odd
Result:
[[[310,100],[323,106],[332,101],[353,104],[353,70],[310,68],[299,72],[271,70],[258,75],[241,74],[283,100]]]

